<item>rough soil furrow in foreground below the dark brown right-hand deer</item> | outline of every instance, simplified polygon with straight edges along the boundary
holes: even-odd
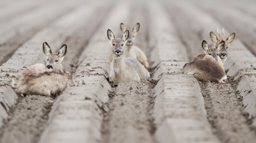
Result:
[[[244,108],[238,100],[236,88],[230,84],[203,83],[201,91],[205,100],[208,120],[213,132],[223,143],[254,143],[255,133],[250,129],[248,119],[243,115]]]

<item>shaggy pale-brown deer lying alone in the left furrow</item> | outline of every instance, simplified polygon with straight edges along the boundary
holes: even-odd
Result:
[[[61,65],[67,45],[63,44],[58,53],[52,53],[50,46],[44,42],[43,51],[47,57],[46,65],[34,64],[18,75],[12,82],[16,93],[55,96],[68,86],[74,86],[72,76]]]

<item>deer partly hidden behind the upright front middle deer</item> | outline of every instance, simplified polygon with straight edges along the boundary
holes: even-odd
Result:
[[[126,30],[128,30],[128,28],[121,23],[120,24],[120,29],[122,32],[125,32]],[[131,32],[131,36],[129,36],[129,39],[126,42],[126,49],[124,52],[124,57],[132,57],[132,58],[136,58],[145,68],[148,68],[148,62],[147,62],[147,56],[145,55],[145,53],[137,46],[134,45],[135,43],[135,38],[136,35],[138,33],[140,29],[140,24],[137,23],[133,28],[132,28],[132,32]],[[112,61],[113,60],[113,56],[112,53],[110,53],[109,55],[109,60]]]

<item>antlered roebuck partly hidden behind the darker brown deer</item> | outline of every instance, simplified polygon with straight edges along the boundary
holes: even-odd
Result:
[[[228,57],[228,51],[229,51],[229,45],[231,42],[233,42],[233,40],[235,39],[235,33],[232,33],[230,36],[228,36],[225,40],[224,40],[224,28],[222,29],[222,37],[220,36],[221,35],[221,32],[219,31],[219,29],[217,28],[217,32],[218,32],[218,35],[219,35],[219,38],[213,33],[213,32],[210,32],[210,38],[211,40],[214,42],[214,46],[216,47],[221,41],[225,41],[225,46],[224,48],[220,51],[220,54],[219,54],[219,58],[222,63],[224,64],[227,57]],[[205,54],[200,54],[198,56],[196,56],[194,58],[194,60],[197,60],[197,59],[203,59],[205,56]]]

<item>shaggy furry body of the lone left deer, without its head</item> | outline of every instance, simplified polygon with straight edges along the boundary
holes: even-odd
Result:
[[[40,63],[28,67],[12,81],[15,92],[24,95],[51,96],[74,85],[72,76],[64,69],[49,71]]]

